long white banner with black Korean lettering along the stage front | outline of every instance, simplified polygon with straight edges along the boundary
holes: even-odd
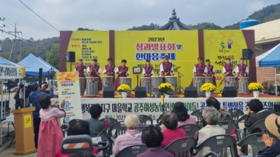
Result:
[[[246,112],[248,110],[248,101],[253,99],[253,94],[239,94],[235,98],[222,98],[217,94],[212,94],[221,103],[221,107],[225,110],[239,109]],[[264,107],[273,108],[274,104],[280,104],[280,96],[273,96],[267,94],[260,94],[258,98],[262,101]],[[52,98],[52,100],[58,100],[58,98]],[[169,111],[173,109],[174,103],[181,101],[185,103],[188,109],[188,114],[197,109],[204,109],[206,107],[205,97],[199,98],[165,98],[165,110]],[[95,103],[102,105],[103,113],[102,118],[114,118],[118,121],[124,121],[127,114],[146,114],[153,119],[158,119],[162,114],[162,105],[160,104],[160,98],[102,98],[102,96],[94,98],[81,98],[81,110],[83,113],[83,119],[89,119],[90,106]],[[67,109],[66,109],[67,112]]]

